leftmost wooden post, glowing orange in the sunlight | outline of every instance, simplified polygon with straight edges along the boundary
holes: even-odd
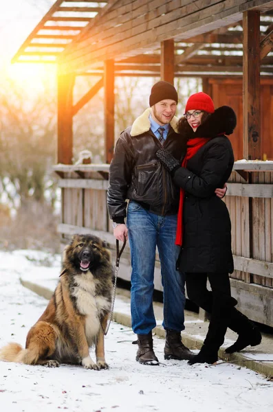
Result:
[[[72,164],[74,74],[58,71],[58,152],[57,162]]]

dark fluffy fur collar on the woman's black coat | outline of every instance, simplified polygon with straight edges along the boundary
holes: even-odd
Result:
[[[219,135],[231,135],[236,127],[237,119],[234,110],[230,106],[221,106],[212,113],[206,121],[194,132],[188,122],[179,121],[179,133],[186,135],[187,139],[195,137],[217,137]]]

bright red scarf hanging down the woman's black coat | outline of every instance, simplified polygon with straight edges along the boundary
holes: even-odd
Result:
[[[187,152],[186,156],[182,161],[182,168],[186,168],[188,159],[191,159],[195,153],[204,146],[204,144],[209,141],[207,137],[196,137],[195,139],[188,139],[187,142]],[[176,230],[176,239],[175,244],[182,246],[182,236],[183,236],[183,204],[184,204],[185,190],[180,188],[180,199],[179,199],[179,209],[177,216],[177,230]]]

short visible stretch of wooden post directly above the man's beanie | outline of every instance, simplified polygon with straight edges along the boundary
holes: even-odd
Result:
[[[175,78],[175,42],[173,38],[161,42],[160,65],[161,80],[173,84]]]

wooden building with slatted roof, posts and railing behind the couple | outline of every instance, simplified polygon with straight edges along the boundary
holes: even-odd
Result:
[[[238,126],[226,203],[236,270],[232,293],[251,319],[273,326],[273,1],[57,0],[14,56],[58,65],[59,230],[94,232],[113,246],[106,190],[114,144],[118,76],[201,77],[215,106],[229,104]],[[76,76],[100,76],[74,102]],[[105,164],[72,165],[73,118],[105,91]],[[146,97],[146,96],[145,96]],[[269,159],[269,161],[262,161]],[[120,276],[130,277],[129,252]],[[155,287],[161,289],[158,262]]]

